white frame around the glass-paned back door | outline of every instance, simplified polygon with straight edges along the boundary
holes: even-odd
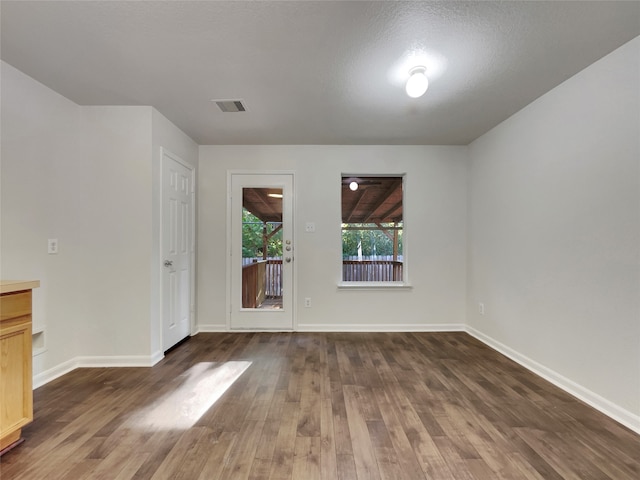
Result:
[[[293,224],[293,228],[291,229],[291,240],[294,245],[294,261],[291,269],[291,327],[292,331],[296,331],[298,329],[298,306],[296,300],[296,292],[298,290],[297,286],[297,278],[298,278],[298,265],[295,261],[295,248],[296,248],[296,175],[293,170],[227,170],[227,245],[225,249],[226,253],[226,272],[225,272],[225,280],[227,284],[227,292],[226,292],[226,328],[228,332],[236,332],[236,331],[261,331],[261,330],[253,330],[253,329],[232,329],[231,328],[231,298],[232,298],[232,282],[231,282],[231,274],[232,274],[232,262],[231,262],[231,251],[233,248],[233,238],[232,238],[232,205],[231,205],[231,194],[232,194],[232,178],[234,175],[291,175],[291,221]],[[265,331],[278,331],[277,329],[269,329]],[[282,331],[282,330],[281,330]],[[287,330],[288,331],[288,330]]]

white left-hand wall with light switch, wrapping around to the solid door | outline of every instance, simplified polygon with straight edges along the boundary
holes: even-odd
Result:
[[[152,363],[160,147],[195,165],[196,144],[151,107],[81,107],[1,66],[0,275],[41,281],[35,384],[76,365]]]

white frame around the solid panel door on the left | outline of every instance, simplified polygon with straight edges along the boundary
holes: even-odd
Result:
[[[191,192],[190,192],[190,197],[191,197],[191,225],[190,225],[190,232],[189,234],[191,235],[191,245],[189,246],[189,263],[190,263],[190,275],[189,275],[189,336],[193,336],[195,334],[195,302],[196,302],[196,261],[195,261],[195,255],[196,255],[196,167],[189,164],[188,162],[185,162],[179,155],[176,155],[175,153],[173,153],[171,150],[169,150],[168,148],[165,147],[160,147],[160,172],[158,175],[158,188],[159,188],[159,201],[160,201],[160,205],[159,205],[159,230],[158,230],[158,257],[156,259],[157,261],[157,265],[156,267],[159,269],[158,271],[160,272],[160,279],[159,279],[159,285],[158,285],[158,308],[159,308],[159,319],[160,319],[160,353],[163,353],[165,351],[164,348],[164,305],[163,305],[163,294],[164,294],[164,282],[163,282],[163,275],[164,275],[164,268],[162,266],[162,262],[164,261],[164,244],[163,244],[163,228],[164,228],[164,191],[163,191],[163,175],[164,175],[164,168],[163,168],[163,160],[165,155],[169,158],[171,158],[173,161],[175,161],[176,163],[179,163],[180,165],[182,165],[183,167],[185,167],[187,170],[189,170],[191,172]]]

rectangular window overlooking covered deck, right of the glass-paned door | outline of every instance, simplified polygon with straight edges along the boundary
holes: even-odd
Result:
[[[342,176],[343,282],[403,282],[402,187],[402,176]]]

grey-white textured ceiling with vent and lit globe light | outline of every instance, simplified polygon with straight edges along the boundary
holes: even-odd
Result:
[[[152,105],[199,144],[464,145],[640,35],[636,1],[3,0],[0,18],[7,63],[81,105]]]

